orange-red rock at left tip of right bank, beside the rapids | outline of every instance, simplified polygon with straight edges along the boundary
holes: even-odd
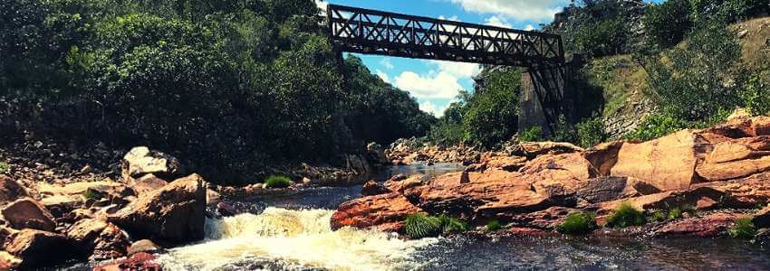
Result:
[[[332,214],[332,229],[342,227],[368,229],[401,222],[410,214],[421,211],[398,192],[364,197],[342,203],[340,208]]]

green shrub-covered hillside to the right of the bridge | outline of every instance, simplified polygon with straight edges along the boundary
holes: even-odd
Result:
[[[579,54],[585,59],[575,72],[573,88],[582,98],[576,106],[592,112],[560,117],[555,135],[548,139],[588,147],[611,138],[647,140],[707,126],[736,107],[745,107],[753,115],[767,114],[768,11],[770,3],[761,0],[669,0],[653,5],[593,0],[565,7],[558,16],[562,19],[544,25],[544,31],[561,34],[567,55]],[[480,90],[459,99],[481,100],[507,93],[511,97],[506,98],[518,100],[519,84],[497,85],[494,80],[511,70],[485,67],[477,79]],[[593,97],[597,89],[602,94]],[[596,103],[600,106],[594,106]],[[510,110],[504,106],[487,105]],[[515,122],[486,130],[457,126],[467,122],[462,117],[470,110],[458,108],[463,107],[455,107],[452,117],[443,117],[432,128],[438,131],[431,134],[435,142],[494,147],[496,140],[516,134],[526,135],[527,140],[540,134],[520,131]],[[501,127],[505,133],[500,133]]]

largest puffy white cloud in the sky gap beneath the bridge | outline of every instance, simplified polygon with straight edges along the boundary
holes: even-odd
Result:
[[[395,86],[409,91],[416,98],[455,98],[463,89],[457,77],[447,71],[427,75],[404,71],[395,78]]]

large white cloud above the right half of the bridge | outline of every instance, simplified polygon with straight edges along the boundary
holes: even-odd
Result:
[[[448,0],[467,11],[499,14],[518,21],[547,22],[568,0]]]

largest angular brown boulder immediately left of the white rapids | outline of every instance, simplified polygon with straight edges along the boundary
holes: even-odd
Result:
[[[173,244],[204,238],[206,189],[203,182],[197,174],[178,179],[141,195],[111,215],[110,221],[136,238]]]

